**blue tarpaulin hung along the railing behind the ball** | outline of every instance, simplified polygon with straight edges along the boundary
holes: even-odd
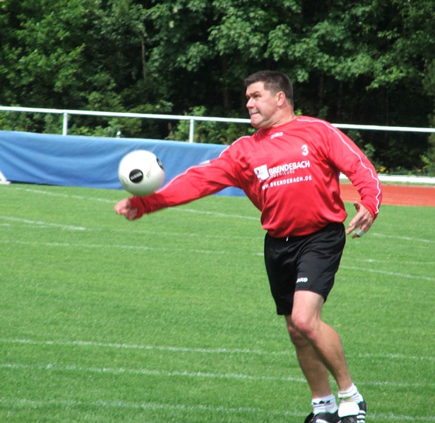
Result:
[[[165,183],[187,168],[215,159],[225,145],[136,138],[82,137],[0,131],[0,172],[20,183],[122,189],[119,161],[149,150],[165,167]],[[244,195],[238,188],[220,194]]]

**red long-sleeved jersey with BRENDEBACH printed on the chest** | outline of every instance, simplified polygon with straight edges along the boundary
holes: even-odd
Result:
[[[346,219],[340,172],[376,218],[381,187],[364,153],[330,123],[299,116],[239,138],[217,159],[189,168],[153,195],[133,197],[131,206],[140,217],[234,186],[261,211],[271,236],[306,235]]]

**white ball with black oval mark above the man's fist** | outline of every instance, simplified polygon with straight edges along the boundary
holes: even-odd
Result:
[[[162,186],[165,169],[160,159],[148,150],[138,149],[119,162],[119,182],[133,195],[150,195]]]

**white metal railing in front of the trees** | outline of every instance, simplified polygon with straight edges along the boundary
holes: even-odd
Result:
[[[20,111],[26,113],[62,114],[64,116],[62,135],[68,135],[68,116],[107,116],[119,118],[144,118],[144,119],[166,119],[171,121],[189,121],[189,142],[193,142],[196,121],[226,122],[226,123],[251,123],[250,119],[243,118],[214,118],[205,116],[184,116],[168,114],[143,114],[143,113],[121,113],[116,111],[90,111],[90,110],[68,110],[68,109],[42,109],[35,107],[12,107],[0,106],[0,111]],[[333,123],[336,128],[362,129],[362,130],[391,130],[399,132],[435,133],[435,128],[414,128],[407,126],[381,126],[381,125],[352,125],[347,123]],[[386,176],[380,175],[380,179],[410,183],[435,183],[435,178],[422,176]]]

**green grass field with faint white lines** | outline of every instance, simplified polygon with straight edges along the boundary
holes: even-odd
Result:
[[[258,211],[213,196],[129,222],[122,197],[0,185],[0,422],[302,423]],[[434,221],[383,206],[324,308],[367,422],[435,422]]]

